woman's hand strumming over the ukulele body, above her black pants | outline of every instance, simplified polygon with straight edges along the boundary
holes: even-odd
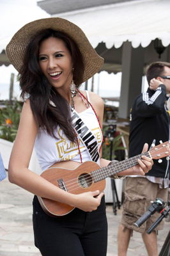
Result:
[[[75,195],[74,207],[81,209],[84,212],[95,211],[100,205],[104,192],[100,193],[99,190],[93,192],[86,192],[79,195]]]

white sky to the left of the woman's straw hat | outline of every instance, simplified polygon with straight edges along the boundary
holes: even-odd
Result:
[[[36,0],[0,0],[0,51],[12,36],[25,24],[36,19],[50,17],[36,4]],[[3,25],[2,25],[3,24]],[[6,42],[4,44],[4,42]],[[10,77],[15,74],[14,97],[20,95],[17,70],[12,65],[0,67],[0,100],[9,98]]]

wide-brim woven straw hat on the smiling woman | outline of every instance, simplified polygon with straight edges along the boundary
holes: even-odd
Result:
[[[6,46],[6,54],[19,73],[29,42],[43,29],[64,32],[77,43],[84,61],[84,74],[81,83],[87,81],[100,70],[104,59],[93,49],[82,29],[68,20],[54,17],[29,22],[15,33]]]

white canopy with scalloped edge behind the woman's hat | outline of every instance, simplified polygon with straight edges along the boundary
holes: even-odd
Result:
[[[170,1],[138,0],[108,4],[75,12],[58,13],[77,24],[88,36],[93,47],[105,42],[110,49],[120,47],[127,40],[132,47],[147,47],[159,38],[166,47],[170,43]]]

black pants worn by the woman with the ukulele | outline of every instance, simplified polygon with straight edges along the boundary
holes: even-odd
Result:
[[[105,256],[107,253],[104,196],[96,211],[75,208],[59,218],[47,215],[35,196],[33,228],[35,246],[43,256]]]

